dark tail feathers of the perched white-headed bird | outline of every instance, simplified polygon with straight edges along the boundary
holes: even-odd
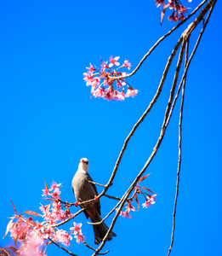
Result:
[[[91,218],[92,223],[100,222],[101,220],[102,220],[102,218],[100,217],[99,213],[96,214],[94,216],[94,218]],[[102,222],[101,224],[94,224],[93,227],[94,227],[94,243],[99,244],[100,241],[103,240],[103,238],[104,238],[105,234],[107,233],[107,231],[109,230],[109,228],[106,226],[106,224],[104,222]],[[107,237],[107,240],[111,241],[113,236],[117,236],[117,235],[111,231],[110,235]]]

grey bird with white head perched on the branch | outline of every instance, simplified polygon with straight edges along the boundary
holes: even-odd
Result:
[[[102,218],[100,217],[100,200],[97,199],[98,192],[93,182],[93,179],[88,174],[87,158],[82,158],[80,160],[77,172],[75,173],[71,181],[71,187],[78,203],[88,201],[90,199],[95,199],[94,201],[80,204],[80,207],[86,207],[83,212],[86,218],[91,219],[91,223],[100,222],[102,220]],[[100,224],[93,224],[93,228],[94,243],[100,244],[100,241],[103,240],[109,228],[104,222]],[[110,235],[107,237],[107,241],[111,241],[112,237],[114,236],[117,235],[111,231]]]

